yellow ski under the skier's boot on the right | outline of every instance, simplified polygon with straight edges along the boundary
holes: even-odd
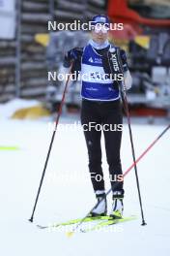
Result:
[[[87,229],[84,229],[84,230],[81,229],[81,232],[87,233],[87,232],[90,232],[90,231],[98,231],[98,230],[101,230],[103,228],[110,227],[112,225],[128,222],[128,221],[135,220],[135,219],[137,219],[136,216],[123,217],[123,218],[120,218],[120,219],[110,218],[110,219],[105,220],[105,221],[100,221],[99,223],[94,225],[92,228],[87,228]]]

